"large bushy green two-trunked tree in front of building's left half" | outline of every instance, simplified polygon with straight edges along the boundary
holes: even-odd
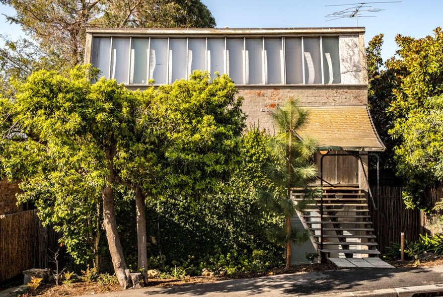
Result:
[[[145,247],[145,196],[216,189],[236,156],[244,115],[227,76],[211,80],[196,72],[188,81],[131,92],[115,80],[92,83],[96,74],[89,66],[76,67],[69,78],[35,72],[16,86],[15,101],[2,101],[8,114],[3,174],[23,181],[20,201],[37,200],[41,216],[66,223],[67,230],[78,225],[63,219],[88,217],[83,210],[76,216],[72,207],[101,195],[114,270],[128,287],[115,216],[117,185],[135,192],[138,243]],[[76,242],[71,238],[66,244]],[[146,269],[147,261],[141,265]]]

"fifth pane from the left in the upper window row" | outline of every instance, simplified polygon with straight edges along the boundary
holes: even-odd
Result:
[[[169,83],[186,79],[186,39],[169,40]]]

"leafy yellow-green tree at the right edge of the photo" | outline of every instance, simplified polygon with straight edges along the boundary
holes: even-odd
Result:
[[[390,135],[399,141],[395,159],[405,178],[404,202],[408,207],[428,207],[422,191],[441,184],[438,158],[439,114],[443,93],[443,31],[420,39],[397,35],[399,58],[387,65],[401,82],[393,90],[388,112],[394,118]]]

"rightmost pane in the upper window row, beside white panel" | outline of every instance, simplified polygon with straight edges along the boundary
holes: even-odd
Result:
[[[322,37],[325,84],[340,84],[338,37]]]

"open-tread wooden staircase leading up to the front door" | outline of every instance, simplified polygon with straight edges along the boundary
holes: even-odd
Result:
[[[303,194],[292,194],[303,200]],[[376,236],[363,190],[358,187],[323,187],[323,216],[321,198],[308,204],[300,219],[313,233],[313,243],[326,257],[377,257]],[[323,233],[323,236],[322,236]],[[323,240],[323,244],[322,244]],[[367,255],[367,256],[366,256]]]

